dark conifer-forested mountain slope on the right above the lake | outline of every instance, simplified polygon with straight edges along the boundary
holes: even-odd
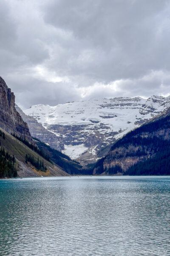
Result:
[[[126,134],[100,159],[93,174],[168,174],[170,110]]]

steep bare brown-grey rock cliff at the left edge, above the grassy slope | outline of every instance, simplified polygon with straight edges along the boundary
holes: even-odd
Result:
[[[15,96],[0,77],[0,127],[31,141],[28,125],[15,109]]]

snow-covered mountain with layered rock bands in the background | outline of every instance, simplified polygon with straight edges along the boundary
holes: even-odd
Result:
[[[169,107],[170,96],[119,97],[67,102],[54,107],[34,105],[24,113],[58,137],[62,152],[80,162],[93,162],[101,149]]]

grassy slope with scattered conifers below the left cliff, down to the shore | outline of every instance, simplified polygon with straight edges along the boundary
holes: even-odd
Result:
[[[3,129],[0,129],[0,134],[0,177],[68,175],[33,143],[14,137]]]

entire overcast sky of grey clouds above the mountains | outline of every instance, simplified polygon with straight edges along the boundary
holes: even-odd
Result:
[[[170,94],[170,0],[2,0],[0,76],[23,109]]]

